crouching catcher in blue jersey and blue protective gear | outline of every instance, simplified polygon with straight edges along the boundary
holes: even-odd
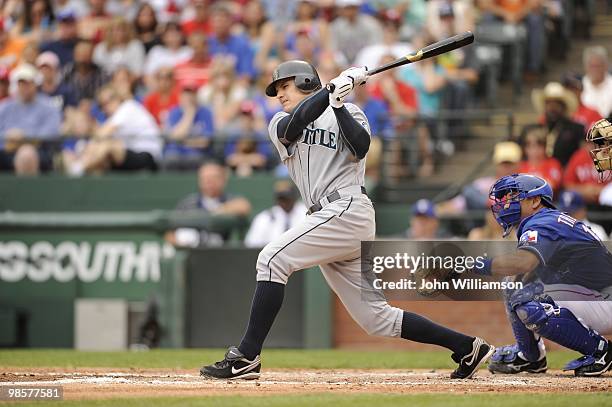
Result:
[[[610,168],[609,153],[594,154],[600,165]],[[576,376],[599,376],[610,370],[612,342],[602,335],[612,334],[612,254],[588,226],[555,209],[552,188],[542,178],[502,177],[490,197],[504,234],[516,228],[518,247],[515,253],[487,259],[473,271],[502,276],[531,273],[535,281],[506,293],[516,344],[497,349],[489,370],[546,372],[542,338],[583,355],[565,367]]]

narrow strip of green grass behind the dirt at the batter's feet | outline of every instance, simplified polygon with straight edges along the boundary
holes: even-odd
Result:
[[[1,367],[112,367],[199,369],[223,358],[222,349],[163,349],[148,352],[79,352],[63,349],[0,350]],[[548,366],[560,369],[574,352],[548,354]],[[455,364],[445,351],[361,351],[268,349],[264,368],[302,369],[448,369]]]

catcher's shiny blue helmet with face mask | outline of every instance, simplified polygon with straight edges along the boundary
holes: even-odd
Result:
[[[542,204],[555,209],[553,191],[548,182],[530,174],[512,174],[493,184],[489,198],[493,201],[491,211],[497,223],[504,228],[504,237],[521,221],[521,201],[539,196]]]

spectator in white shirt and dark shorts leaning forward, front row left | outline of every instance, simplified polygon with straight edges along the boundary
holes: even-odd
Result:
[[[134,99],[123,99],[110,85],[100,90],[98,103],[108,119],[96,129],[70,173],[155,171],[161,138],[153,116]]]

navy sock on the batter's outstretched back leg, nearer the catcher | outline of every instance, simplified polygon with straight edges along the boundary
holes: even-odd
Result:
[[[472,336],[453,331],[408,311],[404,311],[401,336],[415,342],[443,346],[460,357],[472,351],[472,342],[474,342]]]

